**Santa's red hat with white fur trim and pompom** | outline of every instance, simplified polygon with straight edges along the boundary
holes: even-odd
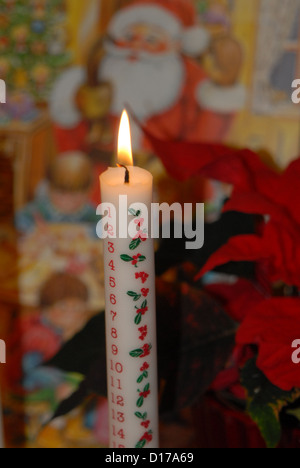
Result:
[[[186,55],[200,55],[209,44],[209,34],[198,23],[192,0],[136,0],[114,15],[108,34],[117,39],[136,23],[161,27],[180,41]]]

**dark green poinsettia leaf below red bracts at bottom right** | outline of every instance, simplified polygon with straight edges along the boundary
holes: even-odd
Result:
[[[286,392],[275,387],[258,369],[256,359],[247,362],[241,382],[248,395],[247,411],[258,425],[268,448],[278,446],[281,438],[280,412],[299,398],[299,390]]]

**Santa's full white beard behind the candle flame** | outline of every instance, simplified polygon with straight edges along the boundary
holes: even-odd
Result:
[[[178,53],[137,53],[107,45],[107,55],[99,69],[100,78],[114,87],[112,113],[120,115],[126,104],[139,120],[170,109],[179,99],[184,85],[185,68]]]

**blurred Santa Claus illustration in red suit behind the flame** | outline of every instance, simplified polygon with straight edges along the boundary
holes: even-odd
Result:
[[[212,77],[201,65],[207,52],[215,54]],[[240,67],[226,78],[228,61],[242,63],[241,50],[234,41],[224,52],[221,43],[212,47],[192,0],[132,2],[112,18],[100,55],[89,89],[83,67],[66,71],[54,87],[51,113],[61,151],[86,150],[87,142],[97,138],[109,147],[113,132],[108,127],[116,125],[126,105],[161,138],[221,141],[244,105],[245,91],[237,83]],[[89,93],[90,108],[84,111]],[[133,143],[136,149],[144,144],[137,127]]]

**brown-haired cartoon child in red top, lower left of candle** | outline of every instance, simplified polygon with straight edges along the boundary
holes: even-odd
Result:
[[[55,273],[40,291],[40,311],[19,320],[9,349],[12,383],[27,392],[42,388],[59,391],[64,374],[40,367],[79,332],[89,318],[87,286],[76,276]]]

